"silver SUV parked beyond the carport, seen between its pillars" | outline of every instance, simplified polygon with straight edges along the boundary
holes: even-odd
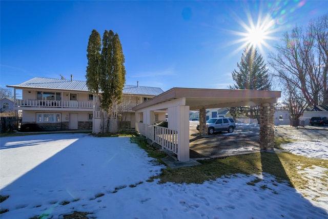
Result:
[[[206,125],[208,126],[209,134],[213,134],[214,132],[227,131],[232,133],[236,128],[236,123],[233,118],[210,118],[206,121]],[[199,125],[197,125],[197,130],[199,131]]]

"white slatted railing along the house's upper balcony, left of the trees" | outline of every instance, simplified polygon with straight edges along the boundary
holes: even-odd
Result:
[[[42,101],[39,99],[16,99],[19,107],[93,108],[90,101]]]

